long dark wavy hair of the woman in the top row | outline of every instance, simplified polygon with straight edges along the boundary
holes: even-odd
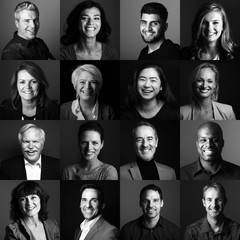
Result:
[[[82,12],[85,9],[96,7],[101,14],[101,29],[97,34],[97,41],[107,43],[111,34],[111,27],[107,22],[106,15],[102,6],[94,1],[86,0],[79,3],[67,17],[67,29],[65,35],[61,37],[61,43],[64,45],[70,45],[76,43],[79,38],[82,38],[79,32],[79,19]]]

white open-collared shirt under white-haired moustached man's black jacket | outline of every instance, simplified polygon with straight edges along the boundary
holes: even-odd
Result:
[[[25,165],[27,180],[41,180],[41,167],[42,167],[41,155],[35,164],[29,163],[24,158],[24,165]]]

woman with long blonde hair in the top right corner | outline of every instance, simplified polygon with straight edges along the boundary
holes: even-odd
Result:
[[[237,60],[240,48],[230,36],[224,7],[217,2],[203,3],[192,24],[191,47],[181,49],[182,59]]]

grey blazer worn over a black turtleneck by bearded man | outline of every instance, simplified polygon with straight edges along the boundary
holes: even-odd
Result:
[[[160,180],[175,180],[175,170],[166,165],[155,162]],[[142,180],[137,162],[131,162],[120,167],[121,180]]]

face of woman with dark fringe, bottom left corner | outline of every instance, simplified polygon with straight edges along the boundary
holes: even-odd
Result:
[[[38,216],[41,210],[41,200],[37,194],[30,194],[19,199],[20,209],[25,218]]]

